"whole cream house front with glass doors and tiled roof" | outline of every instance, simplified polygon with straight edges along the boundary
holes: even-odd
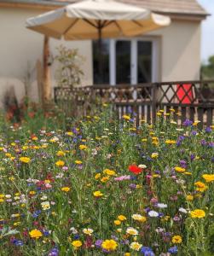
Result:
[[[38,66],[42,61],[43,35],[26,29],[26,19],[60,8],[77,0],[0,0],[0,104],[14,88],[20,101],[26,91],[38,99]],[[83,85],[137,84],[200,79],[201,21],[207,13],[196,0],[119,0],[169,15],[171,26],[136,38],[102,41],[102,73],[99,70],[98,42],[63,41],[50,38],[51,55],[60,44],[78,49],[84,56]],[[52,61],[50,61],[51,63]],[[51,84],[55,82],[55,62],[51,63]]]

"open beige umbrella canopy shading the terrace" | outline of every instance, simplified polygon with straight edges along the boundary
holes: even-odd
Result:
[[[86,0],[26,20],[26,26],[52,38],[132,37],[168,26],[171,19],[112,0]]]

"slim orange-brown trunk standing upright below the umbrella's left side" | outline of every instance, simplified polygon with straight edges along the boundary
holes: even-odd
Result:
[[[50,101],[50,70],[49,70],[49,37],[44,36],[43,40],[43,104]]]

